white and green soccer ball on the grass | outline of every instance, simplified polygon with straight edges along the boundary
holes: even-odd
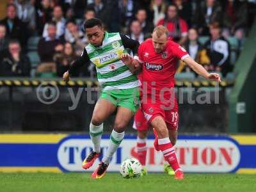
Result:
[[[142,166],[140,161],[135,158],[125,159],[121,164],[120,173],[124,178],[134,178],[141,176]]]

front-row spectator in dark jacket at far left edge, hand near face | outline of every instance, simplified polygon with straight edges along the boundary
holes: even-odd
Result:
[[[30,76],[31,63],[17,40],[11,40],[0,65],[0,76]]]

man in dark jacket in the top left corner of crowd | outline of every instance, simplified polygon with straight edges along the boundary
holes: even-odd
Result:
[[[7,17],[0,21],[6,27],[6,35],[11,39],[19,40],[22,47],[26,45],[26,27],[16,15],[15,4],[8,4],[6,8]]]

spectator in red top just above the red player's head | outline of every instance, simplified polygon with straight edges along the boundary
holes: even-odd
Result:
[[[168,6],[164,19],[159,20],[157,26],[159,25],[166,26],[169,36],[181,45],[188,39],[188,24],[179,17],[178,8],[175,4]]]

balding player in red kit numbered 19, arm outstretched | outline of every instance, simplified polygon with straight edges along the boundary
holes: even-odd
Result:
[[[179,166],[173,147],[177,140],[179,121],[174,92],[177,60],[184,61],[205,79],[220,82],[220,75],[207,72],[183,47],[168,40],[168,29],[164,26],[154,29],[152,38],[140,45],[138,55],[140,64],[134,65],[132,58],[127,54],[122,56],[122,61],[131,70],[141,70],[141,108],[148,123],[155,129],[154,147],[163,152],[164,159],[175,172],[175,179],[184,179],[184,172]]]

